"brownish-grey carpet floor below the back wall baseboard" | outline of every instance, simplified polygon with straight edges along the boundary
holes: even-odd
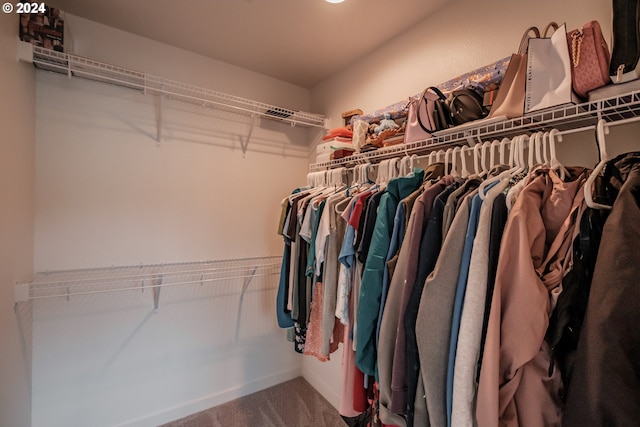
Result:
[[[302,377],[161,427],[344,427],[338,411]]]

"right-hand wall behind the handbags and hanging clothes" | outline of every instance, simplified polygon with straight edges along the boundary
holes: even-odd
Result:
[[[330,127],[341,126],[343,111],[361,108],[372,112],[510,56],[532,25],[542,29],[550,21],[566,22],[571,30],[596,19],[609,40],[610,8],[611,2],[606,0],[450,1],[375,53],[313,88],[312,111],[331,117]],[[565,139],[569,144],[558,148],[562,161],[595,164],[592,134]],[[580,153],[579,159],[575,153]],[[303,361],[304,377],[334,405],[340,395],[340,355],[341,350],[324,364],[311,357]]]

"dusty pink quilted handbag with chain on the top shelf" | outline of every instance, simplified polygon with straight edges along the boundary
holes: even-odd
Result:
[[[571,56],[573,90],[582,98],[587,92],[609,84],[609,47],[598,21],[586,23],[582,30],[567,34]]]

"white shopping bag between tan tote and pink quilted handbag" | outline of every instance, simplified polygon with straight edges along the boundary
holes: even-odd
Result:
[[[551,37],[547,31],[555,29]],[[566,25],[551,23],[542,38],[529,40],[524,112],[576,103]]]

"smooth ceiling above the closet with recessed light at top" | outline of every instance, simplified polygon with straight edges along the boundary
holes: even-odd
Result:
[[[312,88],[446,2],[50,0],[47,4],[110,27]]]

